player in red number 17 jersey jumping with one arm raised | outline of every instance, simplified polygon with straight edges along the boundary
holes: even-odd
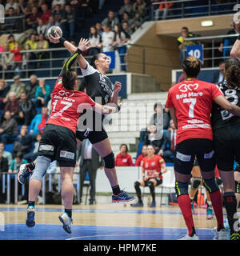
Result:
[[[69,42],[64,42],[64,46]],[[52,96],[52,110],[46,128],[39,142],[38,158],[34,161],[34,173],[29,183],[29,202],[27,208],[26,226],[35,225],[34,204],[42,187],[42,177],[51,161],[57,160],[60,166],[62,180],[62,199],[65,212],[59,216],[63,229],[71,233],[72,203],[74,198],[73,174],[76,164],[76,126],[82,110],[93,108],[102,114],[114,113],[120,106],[102,106],[94,102],[87,94],[76,89],[77,81],[70,66],[76,61],[82,51],[88,49],[88,40],[80,40],[78,50],[66,60],[59,78],[55,84]],[[29,167],[20,168],[19,182],[26,182]]]

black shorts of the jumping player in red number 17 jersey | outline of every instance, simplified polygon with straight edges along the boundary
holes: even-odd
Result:
[[[51,161],[57,160],[60,167],[76,165],[77,142],[72,130],[55,125],[46,125],[39,142],[38,155],[44,155]]]

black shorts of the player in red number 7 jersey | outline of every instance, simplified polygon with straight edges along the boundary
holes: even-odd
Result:
[[[207,138],[190,138],[176,145],[174,170],[180,174],[190,175],[195,156],[202,171],[215,168],[213,141]]]

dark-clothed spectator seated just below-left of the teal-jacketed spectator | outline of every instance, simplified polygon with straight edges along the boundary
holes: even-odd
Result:
[[[23,92],[19,102],[18,124],[29,126],[35,114],[33,102],[26,97],[26,92]]]

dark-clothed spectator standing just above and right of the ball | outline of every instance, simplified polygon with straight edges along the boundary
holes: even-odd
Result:
[[[70,5],[65,6],[65,14],[62,20],[62,36],[74,39],[76,12]]]

